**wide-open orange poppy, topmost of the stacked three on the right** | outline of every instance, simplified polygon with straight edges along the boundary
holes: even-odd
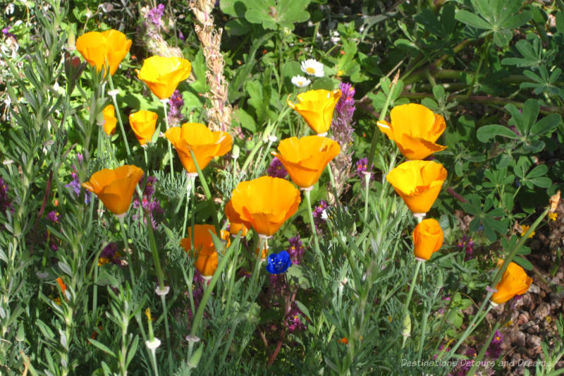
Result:
[[[445,131],[445,119],[422,104],[396,106],[390,111],[390,118],[391,123],[379,121],[378,128],[396,141],[407,159],[424,159],[446,149],[446,146],[435,143]]]

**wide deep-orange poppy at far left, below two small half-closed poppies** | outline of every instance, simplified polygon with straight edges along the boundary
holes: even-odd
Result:
[[[82,187],[95,193],[110,212],[121,216],[128,211],[135,186],[143,174],[142,169],[130,164],[113,170],[102,169],[92,174]]]

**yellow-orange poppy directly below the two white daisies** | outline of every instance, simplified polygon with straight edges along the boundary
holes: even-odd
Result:
[[[288,106],[298,111],[305,122],[318,135],[326,135],[333,120],[333,110],[341,97],[341,90],[309,90],[298,94],[300,103]]]

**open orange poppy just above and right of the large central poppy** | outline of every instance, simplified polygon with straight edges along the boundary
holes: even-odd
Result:
[[[297,186],[308,188],[317,183],[325,166],[339,152],[341,147],[338,142],[309,135],[286,138],[278,145],[278,153],[271,154],[280,159]]]

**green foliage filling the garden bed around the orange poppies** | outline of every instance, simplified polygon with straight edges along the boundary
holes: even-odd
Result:
[[[204,169],[193,190],[176,154],[170,173],[168,141],[159,137],[166,130],[162,104],[133,71],[153,53],[151,42],[178,47],[192,63],[192,77],[178,87],[182,122],[209,120],[208,97],[217,88],[209,85],[188,2],[166,4],[148,40],[139,35],[151,22],[140,13],[145,4],[43,3],[14,1],[13,13],[1,15],[13,35],[4,33],[0,46],[0,177],[11,205],[0,212],[2,375],[446,375],[451,368],[406,368],[401,360],[446,356],[439,346],[468,339],[466,328],[480,312],[467,309],[494,286],[492,259],[513,255],[527,270],[536,266],[515,229],[532,224],[548,195],[564,190],[560,2],[220,1],[212,16],[224,30],[221,68],[234,147],[231,157]],[[114,75],[117,110],[123,119],[138,109],[159,114],[147,147],[137,145],[125,121],[131,158],[121,135],[107,136],[98,125],[110,103],[102,73],[73,50],[76,36],[109,28],[133,40]],[[305,59],[321,61],[324,77],[304,73]],[[296,75],[312,83],[296,87]],[[214,236],[219,271],[209,285],[200,281],[195,255],[179,245],[182,234],[192,224],[223,228],[235,186],[266,174],[279,140],[311,133],[287,101],[341,82],[355,85],[355,132],[341,145],[351,156],[346,166],[322,174],[311,192],[314,205],[335,201],[319,219],[321,256],[303,200],[269,239],[271,252],[288,249],[298,234],[305,246],[302,262],[281,277],[283,289],[255,257],[252,233],[229,246]],[[447,149],[434,157],[448,171],[427,214],[440,219],[443,247],[415,281],[415,220],[385,178],[403,157],[376,127],[379,117],[390,120],[389,109],[410,102],[446,119],[436,142]],[[331,132],[335,137],[335,122]],[[367,157],[374,132],[376,173],[365,196],[355,162]],[[123,164],[156,178],[153,199],[162,213],[154,213],[154,229],[139,205],[146,181],[123,224],[80,189],[95,171]],[[335,196],[331,183],[340,172],[345,188]],[[468,226],[461,225],[465,218]],[[462,236],[475,243],[472,257],[458,248]],[[108,245],[118,249],[119,262],[101,259]],[[155,293],[155,260],[171,288],[165,299]],[[301,325],[290,330],[295,317]],[[486,338],[475,333],[472,341]],[[146,346],[152,336],[161,340],[154,352]],[[543,350],[554,364],[563,356],[562,348]]]

